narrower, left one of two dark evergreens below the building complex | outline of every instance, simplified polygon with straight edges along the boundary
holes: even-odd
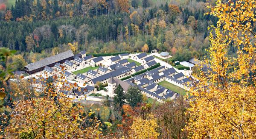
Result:
[[[122,86],[120,84],[116,87],[114,93],[116,94],[114,97],[115,106],[119,105],[120,107],[122,107],[125,104],[125,94],[124,89],[122,89]]]

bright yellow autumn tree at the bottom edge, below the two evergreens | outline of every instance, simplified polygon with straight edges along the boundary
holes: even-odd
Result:
[[[157,128],[157,119],[151,113],[145,117],[134,117],[129,137],[131,139],[157,139],[159,136]]]

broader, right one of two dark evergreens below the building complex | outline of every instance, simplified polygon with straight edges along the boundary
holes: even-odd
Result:
[[[137,106],[137,103],[141,103],[143,100],[140,89],[137,86],[130,86],[126,94],[126,100],[132,107]]]

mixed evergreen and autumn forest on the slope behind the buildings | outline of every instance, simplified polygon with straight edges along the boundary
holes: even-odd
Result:
[[[209,47],[204,0],[16,0],[0,12],[0,47],[30,63],[78,42],[87,53],[168,51],[175,60],[202,58]],[[209,11],[209,9],[208,9]],[[41,53],[41,54],[38,54]]]

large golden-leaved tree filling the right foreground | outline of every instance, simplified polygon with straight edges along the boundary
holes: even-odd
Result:
[[[218,0],[210,7],[218,17],[211,26],[205,73],[191,89],[191,138],[256,138],[255,0]],[[233,55],[229,53],[235,48]]]

